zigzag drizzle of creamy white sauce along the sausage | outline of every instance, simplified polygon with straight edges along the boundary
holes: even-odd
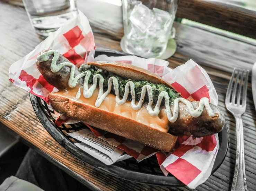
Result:
[[[208,98],[201,98],[198,108],[194,109],[192,103],[184,98],[176,98],[174,100],[174,109],[173,109],[173,114],[171,113],[171,109],[170,109],[170,104],[169,104],[169,96],[168,93],[166,91],[161,91],[159,96],[158,96],[158,100],[157,100],[157,104],[154,108],[154,110],[152,109],[152,103],[153,103],[153,94],[152,94],[152,87],[149,85],[145,85],[142,87],[142,91],[141,91],[141,97],[140,97],[140,101],[138,102],[138,104],[136,105],[135,103],[135,90],[134,90],[134,83],[132,81],[129,81],[126,83],[125,85],[125,92],[124,92],[124,96],[123,99],[120,99],[120,94],[119,94],[119,84],[118,84],[118,80],[115,77],[110,77],[108,79],[108,89],[106,92],[104,92],[103,90],[103,82],[104,82],[104,78],[103,76],[101,76],[100,74],[96,74],[93,77],[93,84],[90,86],[90,88],[88,87],[88,81],[89,78],[91,76],[91,71],[87,70],[85,72],[82,72],[80,74],[78,74],[76,77],[74,77],[74,72],[76,69],[76,66],[70,62],[63,62],[60,64],[56,64],[57,60],[60,57],[60,53],[58,50],[49,50],[48,52],[44,52],[43,54],[41,54],[40,56],[38,56],[37,60],[39,62],[44,62],[47,61],[49,59],[49,55],[53,54],[53,59],[52,59],[52,64],[51,64],[51,70],[52,72],[58,72],[62,67],[67,66],[70,67],[70,78],[69,78],[69,87],[74,88],[77,85],[77,82],[80,78],[85,77],[84,79],[84,83],[83,83],[83,96],[85,98],[90,98],[92,96],[92,93],[94,92],[94,90],[97,87],[97,81],[99,80],[99,93],[98,93],[98,97],[97,100],[95,102],[95,107],[99,107],[100,104],[103,102],[103,100],[107,97],[107,95],[111,92],[111,87],[112,87],[112,83],[114,85],[114,89],[115,89],[115,94],[116,94],[116,103],[119,105],[122,105],[126,102],[127,98],[128,98],[128,94],[129,94],[129,89],[131,90],[131,95],[132,95],[132,101],[131,101],[131,105],[132,108],[137,111],[141,108],[146,91],[148,92],[148,97],[149,97],[149,103],[148,103],[148,112],[152,117],[156,117],[159,112],[160,112],[160,106],[161,106],[161,102],[162,99],[165,98],[165,109],[166,109],[166,113],[167,113],[167,118],[170,122],[175,122],[178,118],[179,115],[179,102],[183,102],[189,113],[191,114],[192,117],[197,118],[199,117],[202,112],[203,109],[205,107],[206,111],[208,112],[210,117],[215,117],[217,116],[217,114],[213,113],[213,110],[209,104],[209,99]],[[76,95],[76,99],[79,99],[81,96],[81,92],[80,92],[80,88],[79,91],[77,92]]]

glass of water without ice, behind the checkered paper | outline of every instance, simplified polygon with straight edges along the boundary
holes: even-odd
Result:
[[[29,20],[42,38],[77,16],[75,0],[23,0]]]

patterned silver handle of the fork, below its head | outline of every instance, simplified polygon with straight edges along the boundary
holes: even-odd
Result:
[[[247,191],[245,178],[245,157],[244,157],[244,130],[241,115],[234,115],[236,119],[236,166],[231,191]]]

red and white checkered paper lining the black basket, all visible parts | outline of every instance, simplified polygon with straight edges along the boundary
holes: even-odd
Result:
[[[167,67],[167,61],[158,59],[143,59],[136,56],[107,57],[106,55],[100,55],[94,59],[95,42],[92,30],[87,18],[80,11],[77,18],[68,21],[52,33],[27,56],[12,64],[9,69],[9,80],[12,83],[44,99],[47,103],[49,103],[49,93],[56,92],[58,89],[47,83],[36,68],[36,57],[43,49],[59,50],[63,56],[78,66],[94,60],[119,61],[139,66],[170,82],[186,99],[199,101],[202,97],[207,97],[211,103],[218,104],[218,96],[208,74],[192,60],[171,70]],[[77,122],[58,112],[54,115],[58,125],[64,122]],[[170,172],[192,189],[209,178],[219,149],[217,134],[195,140],[191,137],[179,137],[174,152],[165,153],[112,133],[103,135],[96,130],[92,132],[97,137],[125,150],[138,161],[156,153],[163,173],[167,175]]]

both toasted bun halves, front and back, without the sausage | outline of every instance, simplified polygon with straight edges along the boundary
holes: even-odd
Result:
[[[155,84],[165,84],[174,89],[170,83],[157,74],[139,67],[121,62],[90,62],[88,65],[97,66],[103,70],[113,72],[126,79],[144,80]],[[89,125],[122,137],[138,141],[161,151],[170,152],[176,143],[177,137],[167,132],[145,125],[133,119],[83,104],[64,95],[50,93],[50,100],[55,110]],[[122,107],[122,106],[120,106]]]

